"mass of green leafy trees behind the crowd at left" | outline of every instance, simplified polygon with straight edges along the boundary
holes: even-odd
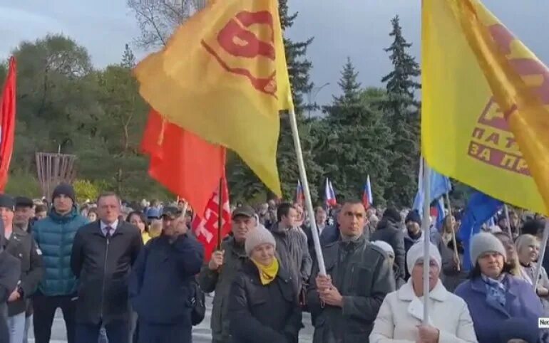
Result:
[[[138,151],[148,108],[131,75],[135,57],[128,46],[122,61],[104,70],[94,70],[86,48],[62,35],[25,41],[13,54],[17,122],[9,189],[24,191],[11,185],[23,176],[34,184],[36,152],[61,151],[77,155],[79,177],[124,197],[168,196],[148,178],[148,161]],[[29,191],[41,195],[34,186]]]

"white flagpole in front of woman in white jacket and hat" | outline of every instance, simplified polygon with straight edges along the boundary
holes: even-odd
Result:
[[[431,257],[429,255],[429,246],[431,238],[431,168],[427,161],[424,159],[424,218],[422,223],[424,231],[424,324],[429,324],[429,265],[431,263]],[[411,270],[410,270],[411,271]]]

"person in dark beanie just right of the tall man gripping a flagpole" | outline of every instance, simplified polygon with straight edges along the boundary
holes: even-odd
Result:
[[[372,233],[370,241],[384,241],[391,245],[394,250],[394,263],[399,267],[399,276],[404,279],[406,276],[406,251],[404,250],[404,232],[400,228],[401,221],[399,211],[391,207],[386,209],[383,218],[377,224],[376,231]]]

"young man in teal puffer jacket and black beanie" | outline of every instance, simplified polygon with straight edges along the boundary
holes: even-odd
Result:
[[[88,223],[76,208],[72,186],[60,184],[53,190],[53,207],[37,221],[33,235],[42,251],[43,280],[33,298],[36,343],[48,343],[56,309],[61,307],[67,342],[74,342],[77,280],[71,270],[71,252],[76,231]]]

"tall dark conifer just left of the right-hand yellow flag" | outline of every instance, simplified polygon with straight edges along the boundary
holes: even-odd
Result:
[[[391,176],[385,197],[389,204],[410,206],[416,192],[419,165],[419,102],[414,92],[421,88],[416,78],[421,75],[419,64],[407,50],[411,47],[402,35],[399,16],[391,20],[394,41],[385,51],[394,70],[381,79],[386,83],[387,97],[381,102],[386,122],[394,135],[391,144]]]

